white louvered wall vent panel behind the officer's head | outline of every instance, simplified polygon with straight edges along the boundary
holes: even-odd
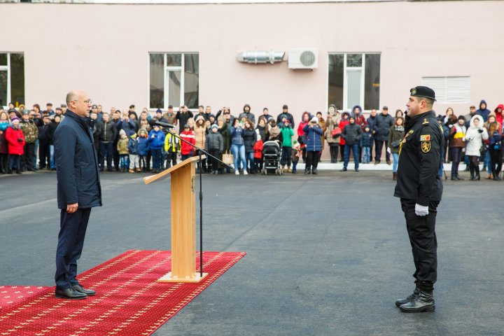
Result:
[[[434,90],[439,103],[470,102],[470,77],[422,77],[421,83]]]

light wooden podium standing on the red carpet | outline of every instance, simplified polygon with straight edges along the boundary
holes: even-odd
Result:
[[[200,282],[208,275],[196,272],[195,162],[199,160],[197,156],[188,158],[164,172],[144,177],[144,183],[149,184],[172,176],[172,272],[158,282]]]

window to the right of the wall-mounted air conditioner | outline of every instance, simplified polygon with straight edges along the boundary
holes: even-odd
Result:
[[[379,109],[380,54],[329,54],[328,105]]]

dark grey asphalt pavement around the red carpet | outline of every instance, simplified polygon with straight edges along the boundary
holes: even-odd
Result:
[[[79,272],[170,249],[170,181],[143,176],[102,174]],[[436,311],[422,314],[394,304],[414,288],[394,186],[376,171],[203,176],[204,251],[247,255],[154,335],[504,335],[504,182],[444,182]],[[55,172],[0,176],[0,195],[0,286],[53,286]]]

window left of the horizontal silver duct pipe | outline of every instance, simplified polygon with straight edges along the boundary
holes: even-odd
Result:
[[[197,53],[149,54],[149,107],[167,109],[168,105],[200,104],[200,55]]]

